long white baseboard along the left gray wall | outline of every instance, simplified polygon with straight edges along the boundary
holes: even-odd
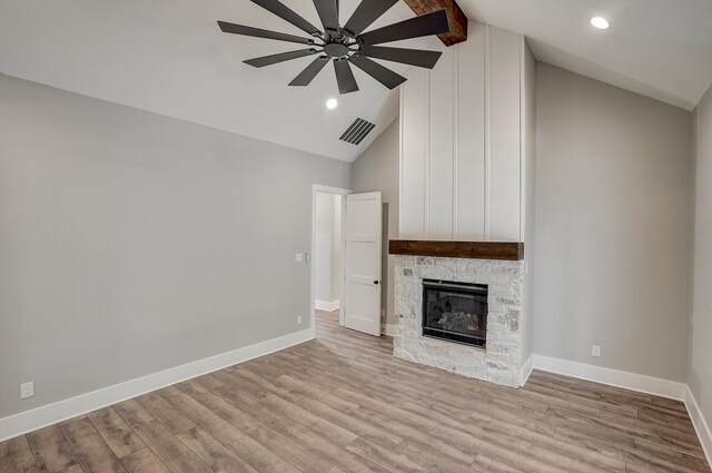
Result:
[[[307,328],[0,418],[0,442],[313,338],[313,328]]]

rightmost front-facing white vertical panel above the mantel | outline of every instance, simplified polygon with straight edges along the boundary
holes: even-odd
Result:
[[[490,240],[520,240],[522,36],[490,29]]]

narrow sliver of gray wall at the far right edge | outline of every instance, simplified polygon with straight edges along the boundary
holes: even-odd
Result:
[[[696,213],[694,299],[688,382],[712,422],[712,87],[695,109]]]

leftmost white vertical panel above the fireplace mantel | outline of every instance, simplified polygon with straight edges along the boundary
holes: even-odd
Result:
[[[427,237],[426,183],[428,148],[427,72],[413,70],[400,86],[400,213],[399,238]]]

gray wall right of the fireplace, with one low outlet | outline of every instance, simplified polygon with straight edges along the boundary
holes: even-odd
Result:
[[[545,63],[536,110],[534,353],[684,382],[691,114]]]

